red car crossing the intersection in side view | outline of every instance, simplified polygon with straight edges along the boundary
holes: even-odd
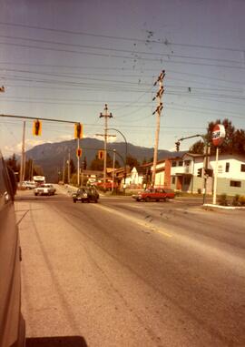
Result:
[[[174,191],[171,189],[145,189],[138,194],[132,195],[136,201],[166,201],[174,198]]]

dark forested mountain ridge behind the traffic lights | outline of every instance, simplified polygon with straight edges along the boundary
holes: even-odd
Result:
[[[76,165],[76,148],[76,140],[45,143],[28,150],[26,152],[26,158],[33,158],[34,164],[40,165],[44,169],[44,176],[47,180],[55,181],[58,178],[58,172],[62,171],[64,162],[68,159],[69,151],[71,158],[73,158],[73,163]],[[80,148],[83,148],[83,156],[80,158],[80,162],[83,161],[85,156],[89,168],[90,163],[97,155],[98,150],[103,149],[103,141],[96,138],[83,138],[80,140]],[[125,158],[125,142],[108,143],[107,148],[111,157],[113,156],[113,149],[116,149],[116,152],[119,153],[122,158]],[[140,163],[142,163],[142,160],[144,159],[150,161],[153,157],[153,151],[153,148],[134,146],[130,143],[127,144],[127,154],[131,155],[133,158],[137,158]],[[117,160],[123,166],[122,158],[120,158],[120,156],[117,156]],[[164,149],[159,150],[159,160],[170,156],[170,151]]]

